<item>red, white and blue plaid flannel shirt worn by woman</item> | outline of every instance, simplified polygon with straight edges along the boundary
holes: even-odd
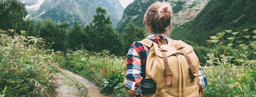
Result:
[[[147,39],[150,39],[151,41],[158,44],[157,37],[163,36],[167,41],[167,36],[164,33],[158,33],[158,34],[151,34],[147,37]],[[139,82],[144,79],[145,76],[145,67],[146,67],[146,60],[149,53],[149,47],[146,47],[145,45],[134,42],[128,51],[127,54],[127,71],[126,71],[126,79],[124,81],[124,86],[127,89],[137,91],[139,89]],[[207,79],[204,75],[204,72],[201,71],[199,68],[199,78],[201,79],[204,90],[206,89],[207,85]]]

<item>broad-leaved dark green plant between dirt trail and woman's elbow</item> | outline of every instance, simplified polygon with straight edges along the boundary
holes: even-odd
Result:
[[[125,77],[120,76],[120,74],[111,75],[103,79],[104,84],[102,84],[103,87],[100,89],[101,93],[111,93],[119,83],[123,83],[124,79]]]

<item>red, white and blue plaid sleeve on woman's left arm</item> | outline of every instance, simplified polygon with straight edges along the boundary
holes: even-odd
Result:
[[[139,89],[139,82],[143,79],[142,75],[142,62],[139,54],[135,50],[134,44],[130,46],[127,54],[126,63],[126,79],[124,81],[124,86],[127,89],[137,91]]]

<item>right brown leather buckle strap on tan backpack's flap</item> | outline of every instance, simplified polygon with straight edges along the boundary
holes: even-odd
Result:
[[[189,71],[190,71],[190,76],[191,76],[191,82],[194,82],[194,79],[195,77],[198,77],[198,76],[201,76],[201,75],[198,75],[196,72],[195,72],[195,67],[192,65],[192,62],[189,58],[189,55],[187,54],[187,52],[183,49],[184,47],[180,47],[178,46],[177,44],[175,44],[175,40],[171,39],[171,45],[173,45],[174,47],[176,47],[177,49],[176,50],[180,50],[183,55],[185,56],[187,62],[188,62],[188,65],[189,65]],[[191,66],[192,65],[192,66]]]

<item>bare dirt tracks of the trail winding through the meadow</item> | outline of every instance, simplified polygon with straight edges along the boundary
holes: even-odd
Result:
[[[61,70],[64,75],[61,74],[56,75],[57,82],[59,84],[59,87],[56,89],[56,97],[77,97],[77,88],[73,86],[73,81],[70,81],[70,78],[67,77],[72,77],[74,80],[82,83],[86,88],[88,88],[88,94],[89,97],[110,97],[110,96],[105,96],[104,94],[100,93],[100,90],[98,87],[96,87],[94,84],[92,84],[90,81],[87,79],[78,76],[68,70],[60,68],[58,65],[55,64],[56,67],[58,67],[59,70]]]

